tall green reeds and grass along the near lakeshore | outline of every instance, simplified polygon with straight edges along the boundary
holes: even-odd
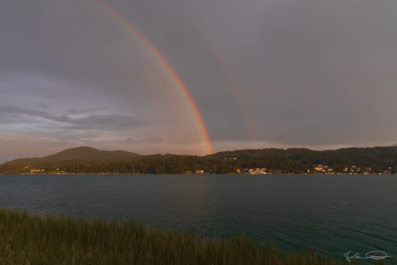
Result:
[[[347,261],[316,255],[311,249],[281,253],[245,236],[205,238],[138,222],[44,218],[0,209],[0,264],[336,265]]]

